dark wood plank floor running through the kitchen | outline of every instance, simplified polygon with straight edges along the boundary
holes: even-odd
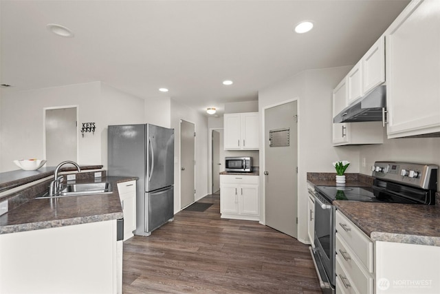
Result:
[[[308,246],[258,222],[220,218],[219,195],[204,212],[124,242],[123,292],[321,293]]]

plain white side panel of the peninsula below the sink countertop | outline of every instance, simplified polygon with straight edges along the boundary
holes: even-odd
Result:
[[[118,293],[116,220],[0,234],[0,293]]]

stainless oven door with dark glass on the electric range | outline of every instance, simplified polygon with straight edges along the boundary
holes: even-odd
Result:
[[[335,207],[315,192],[315,249],[314,258],[318,273],[334,289],[335,273]],[[319,268],[322,269],[319,269]]]

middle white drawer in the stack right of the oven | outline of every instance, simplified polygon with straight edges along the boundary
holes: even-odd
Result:
[[[349,280],[360,293],[373,293],[373,277],[353,254],[351,248],[341,240],[339,233],[336,233],[336,258],[347,271]]]

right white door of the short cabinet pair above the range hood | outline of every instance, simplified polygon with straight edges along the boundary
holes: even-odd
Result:
[[[385,37],[381,36],[362,58],[364,93],[385,81]]]

